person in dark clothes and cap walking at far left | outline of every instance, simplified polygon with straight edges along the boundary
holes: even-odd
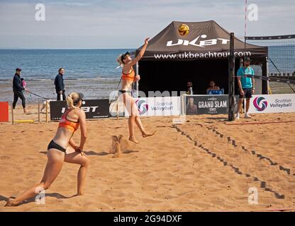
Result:
[[[23,95],[23,90],[26,90],[26,88],[23,88],[21,85],[21,69],[16,69],[16,73],[13,77],[13,109],[16,109],[16,102],[18,102],[18,97],[21,98],[21,104],[23,105],[23,112],[28,113],[26,110],[26,98]]]

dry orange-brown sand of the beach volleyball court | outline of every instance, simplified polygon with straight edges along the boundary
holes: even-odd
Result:
[[[35,119],[31,114],[16,119]],[[41,117],[43,121],[44,114]],[[0,211],[258,211],[295,209],[295,114],[256,114],[227,122],[225,115],[191,116],[174,125],[174,117],[143,118],[155,136],[141,138],[121,157],[108,154],[112,135],[128,136],[127,119],[87,121],[85,153],[91,159],[84,196],[76,194],[78,165],[65,163],[46,191],[45,205],[28,201],[3,207],[40,182],[46,148],[57,122],[0,124]],[[74,135],[79,141],[79,131]],[[71,151],[71,150],[69,150]],[[257,188],[258,203],[248,190]],[[74,197],[72,197],[74,196]]]

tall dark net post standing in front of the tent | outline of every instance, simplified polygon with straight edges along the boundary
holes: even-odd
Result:
[[[235,120],[235,54],[234,54],[235,35],[230,33],[230,55],[228,57],[228,121]]]

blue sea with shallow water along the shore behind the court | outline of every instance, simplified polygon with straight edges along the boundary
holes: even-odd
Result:
[[[119,54],[134,49],[0,49],[0,101],[13,100],[12,78],[16,68],[31,93],[56,99],[54,79],[60,67],[65,68],[66,94],[84,93],[87,99],[104,99],[118,90],[121,69]],[[269,47],[269,58],[282,73],[295,71],[295,45]],[[279,73],[269,62],[269,73]],[[28,102],[41,100],[26,93]]]

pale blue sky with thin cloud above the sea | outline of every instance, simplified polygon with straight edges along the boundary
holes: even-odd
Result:
[[[248,36],[295,34],[294,0],[247,0],[258,18]],[[44,4],[45,20],[35,20]],[[0,0],[0,48],[136,48],[173,20],[215,20],[244,35],[245,0]]]

